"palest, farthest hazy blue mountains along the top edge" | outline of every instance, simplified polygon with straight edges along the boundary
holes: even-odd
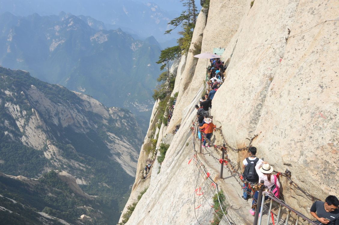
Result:
[[[59,14],[89,15],[107,24],[108,29],[122,28],[139,37],[154,36],[157,40],[177,39],[177,32],[164,36],[167,23],[180,15],[182,3],[177,0],[10,0],[0,1],[0,13],[17,16],[38,13],[42,16]],[[158,4],[157,4],[158,3]],[[161,5],[163,8],[160,8]],[[199,4],[198,4],[199,5]],[[114,25],[115,27],[110,27]]]

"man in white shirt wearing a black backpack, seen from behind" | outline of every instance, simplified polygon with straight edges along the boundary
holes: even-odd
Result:
[[[257,154],[257,148],[256,147],[250,147],[249,149],[250,151],[250,157],[245,158],[244,161],[242,161],[243,168],[245,169],[244,173],[242,174],[243,178],[249,182],[252,183],[258,183],[259,181],[259,176],[256,172],[256,168],[255,166],[258,163],[261,163],[263,160],[257,158],[255,155]],[[243,184],[243,196],[241,196],[241,198],[245,201],[247,201],[248,197],[247,197],[247,193],[248,190],[251,190],[250,188],[248,188],[248,184]]]

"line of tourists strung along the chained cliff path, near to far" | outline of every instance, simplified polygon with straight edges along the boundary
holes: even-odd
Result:
[[[197,109],[197,118],[199,123],[198,137],[203,138],[202,147],[210,147],[209,142],[213,131],[216,129],[216,125],[212,122],[212,116],[210,110],[212,108],[212,100],[218,88],[223,83],[224,72],[226,67],[220,59],[211,59],[211,66],[207,68],[209,74],[209,81],[207,82],[208,88],[207,92],[199,101],[199,105],[195,105]],[[204,135],[202,135],[202,133]],[[208,143],[207,143],[207,140]],[[207,143],[207,146],[206,146]],[[253,184],[258,183],[260,180],[264,181],[264,185],[267,189],[279,198],[280,196],[280,182],[278,177],[273,172],[273,166],[268,162],[263,161],[260,158],[256,157],[257,149],[255,147],[250,147],[249,157],[243,160],[243,178]],[[252,194],[252,188],[248,184],[243,184],[243,196],[241,197],[244,201],[248,200],[248,197]],[[254,216],[255,211],[259,210],[260,215],[260,204],[257,202],[258,191],[254,192],[252,200],[252,208],[249,212]],[[268,199],[268,196],[265,196],[265,200]],[[310,213],[316,219],[317,224],[327,224],[327,225],[339,225],[339,201],[336,196],[330,195],[325,199],[325,202],[316,201],[313,203]]]

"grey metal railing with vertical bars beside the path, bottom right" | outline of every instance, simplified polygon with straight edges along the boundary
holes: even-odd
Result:
[[[262,180],[263,181],[263,180]],[[282,207],[285,207],[287,209],[287,216],[285,220],[282,220],[281,224],[288,224],[288,219],[290,219],[291,216],[291,212],[296,214],[296,219],[295,219],[295,223],[293,222],[293,224],[298,225],[299,224],[299,220],[302,219],[303,221],[305,221],[308,225],[319,225],[316,222],[312,221],[310,218],[306,217],[305,215],[303,215],[301,212],[293,209],[291,206],[287,205],[284,201],[278,199],[275,195],[273,195],[271,192],[268,192],[267,190],[264,190],[264,186],[262,185],[262,188],[260,188],[259,190],[259,195],[258,195],[258,202],[261,202],[260,205],[260,212],[259,210],[256,210],[255,213],[255,218],[254,218],[254,222],[253,225],[261,225],[262,222],[262,217],[263,217],[263,208],[264,208],[264,202],[265,202],[265,196],[268,196],[270,198],[270,207],[268,209],[268,217],[267,217],[267,225],[270,224],[271,222],[271,213],[273,213],[272,210],[272,203],[276,202],[279,205],[279,209],[278,209],[278,215],[277,215],[277,220],[276,222],[274,221],[274,217],[272,216],[272,223],[275,225],[279,225],[279,223],[281,222],[280,219],[280,215],[281,215],[281,209]],[[260,215],[259,215],[260,214]]]

